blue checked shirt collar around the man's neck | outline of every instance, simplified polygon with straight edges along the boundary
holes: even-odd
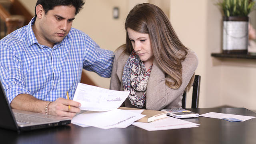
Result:
[[[40,46],[40,48],[44,48],[44,45],[41,45],[38,43],[38,41],[36,40],[36,36],[32,30],[32,25],[35,23],[36,18],[33,17],[32,20],[28,23],[27,28],[26,28],[26,33],[27,33],[27,37],[26,37],[26,41],[28,46],[32,46],[33,44],[38,44],[38,46]],[[56,43],[54,44],[54,47],[56,46],[60,46],[61,44],[63,44],[63,42],[69,38],[69,33],[67,36],[65,36],[65,38],[62,40],[62,42]]]

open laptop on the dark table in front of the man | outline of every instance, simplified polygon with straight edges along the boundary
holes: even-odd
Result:
[[[67,118],[12,109],[1,82],[0,86],[0,128],[22,132],[70,124]]]

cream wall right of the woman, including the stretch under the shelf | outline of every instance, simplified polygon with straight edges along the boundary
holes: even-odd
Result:
[[[171,0],[170,4],[174,29],[199,58],[196,70],[202,76],[199,107],[228,105],[256,110],[255,60],[210,56],[222,48],[222,15],[215,5],[217,2]]]

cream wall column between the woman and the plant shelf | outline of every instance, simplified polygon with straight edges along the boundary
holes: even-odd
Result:
[[[220,63],[211,58],[211,52],[220,52],[221,14],[214,1],[171,0],[170,22],[185,46],[196,52],[201,75],[199,107],[222,105],[220,97]]]

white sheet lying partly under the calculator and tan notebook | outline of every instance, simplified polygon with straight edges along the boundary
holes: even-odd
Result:
[[[173,118],[168,116],[163,120],[158,120],[154,122],[134,122],[132,125],[137,126],[139,128],[143,128],[144,130],[154,131],[154,130],[170,130],[170,129],[178,129],[178,128],[193,128],[198,127],[200,124],[196,124],[193,122],[188,122],[186,120],[180,120],[178,118]]]

